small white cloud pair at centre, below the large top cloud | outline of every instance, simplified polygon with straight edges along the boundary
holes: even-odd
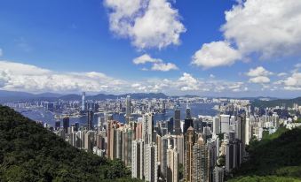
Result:
[[[170,70],[178,70],[178,66],[172,63],[164,63],[162,59],[150,57],[147,54],[142,55],[141,57],[137,57],[133,59],[134,64],[153,64],[151,69],[152,71],[161,71],[168,72]],[[143,68],[143,71],[147,71],[147,68]]]

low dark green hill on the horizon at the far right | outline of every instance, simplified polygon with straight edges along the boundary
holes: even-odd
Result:
[[[252,102],[252,105],[255,107],[275,107],[285,105],[286,107],[292,107],[294,103],[301,105],[301,97],[297,97],[294,99],[275,99],[271,101],[263,101],[260,99],[256,99]]]

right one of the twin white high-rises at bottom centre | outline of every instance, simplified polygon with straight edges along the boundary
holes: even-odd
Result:
[[[157,163],[157,146],[154,142],[146,145],[146,164],[145,178],[148,182],[157,182],[158,180],[158,163]]]

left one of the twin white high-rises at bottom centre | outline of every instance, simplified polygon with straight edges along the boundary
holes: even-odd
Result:
[[[131,178],[144,177],[144,141],[133,140],[131,142]]]

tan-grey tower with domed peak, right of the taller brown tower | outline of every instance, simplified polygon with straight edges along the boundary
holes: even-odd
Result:
[[[192,173],[194,182],[209,181],[209,154],[208,148],[202,136],[193,147]]]

